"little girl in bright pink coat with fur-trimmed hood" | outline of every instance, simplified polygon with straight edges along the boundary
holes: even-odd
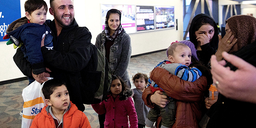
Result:
[[[98,114],[106,113],[104,128],[138,128],[132,95],[132,90],[127,88],[122,78],[113,75],[107,99],[99,104],[92,104]]]

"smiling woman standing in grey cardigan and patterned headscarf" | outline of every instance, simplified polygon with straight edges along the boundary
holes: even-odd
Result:
[[[131,88],[127,71],[132,47],[130,36],[121,25],[121,12],[111,9],[107,12],[105,29],[98,34],[95,46],[108,59],[112,74],[120,76]],[[100,128],[104,128],[105,114],[99,115]]]

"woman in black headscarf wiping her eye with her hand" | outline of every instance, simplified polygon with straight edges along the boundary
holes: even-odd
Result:
[[[218,49],[218,27],[209,15],[196,15],[189,28],[189,39],[195,45],[199,60],[210,68],[210,58]]]

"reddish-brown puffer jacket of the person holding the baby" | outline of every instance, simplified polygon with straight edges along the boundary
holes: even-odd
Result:
[[[201,76],[194,82],[188,82],[172,75],[163,68],[155,68],[150,78],[165,90],[171,98],[177,99],[176,121],[172,128],[198,128],[198,123],[202,118],[200,106],[206,90],[207,80]],[[150,96],[154,94],[150,88],[146,88],[142,94],[145,104],[154,108]]]

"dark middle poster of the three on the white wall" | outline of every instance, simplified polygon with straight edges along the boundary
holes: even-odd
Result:
[[[154,6],[136,6],[137,31],[154,30]]]

